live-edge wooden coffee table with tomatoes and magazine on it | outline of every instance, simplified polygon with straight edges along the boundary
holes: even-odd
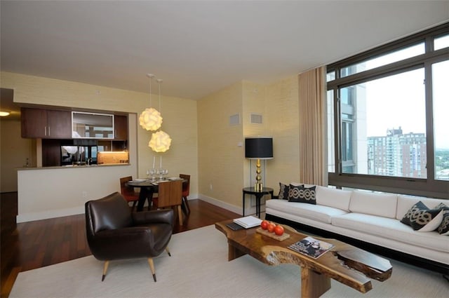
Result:
[[[330,251],[314,259],[287,248],[307,237],[290,226],[282,225],[290,238],[277,241],[256,233],[257,227],[233,231],[226,226],[230,222],[232,219],[215,224],[215,228],[227,236],[228,260],[248,254],[272,266],[297,264],[301,267],[301,297],[321,296],[330,289],[330,278],[365,293],[373,288],[370,278],[384,281],[391,276],[392,268],[387,259],[347,243],[314,236],[335,245]]]

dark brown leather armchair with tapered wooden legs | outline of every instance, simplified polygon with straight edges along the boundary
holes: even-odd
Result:
[[[107,266],[113,259],[146,257],[156,281],[152,257],[166,250],[170,241],[175,216],[173,210],[131,212],[121,194],[115,192],[86,207],[86,236],[89,248],[96,259],[105,261],[102,281]]]

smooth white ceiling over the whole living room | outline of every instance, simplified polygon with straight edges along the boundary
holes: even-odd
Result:
[[[449,1],[4,1],[1,70],[199,99],[449,20]],[[155,86],[155,85],[154,85]]]

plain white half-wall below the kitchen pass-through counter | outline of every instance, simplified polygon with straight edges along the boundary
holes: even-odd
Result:
[[[120,191],[120,178],[136,173],[136,163],[21,168],[17,222],[82,214],[87,201]]]

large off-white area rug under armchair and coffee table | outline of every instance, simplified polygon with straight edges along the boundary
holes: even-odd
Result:
[[[227,262],[227,240],[214,226],[173,235],[172,257],[103,262],[83,257],[21,272],[10,297],[300,297],[300,267],[267,266],[248,255]],[[441,274],[391,261],[393,274],[361,294],[335,280],[322,297],[448,297]]]

